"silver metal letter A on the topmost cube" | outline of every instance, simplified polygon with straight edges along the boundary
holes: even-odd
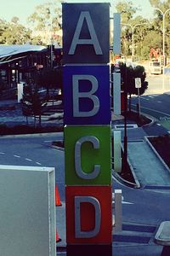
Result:
[[[86,20],[87,25],[88,25],[88,31],[89,31],[89,34],[91,37],[90,39],[80,39],[80,33],[82,30],[82,25],[83,25],[84,20]],[[98,40],[96,32],[94,30],[94,24],[92,22],[89,12],[81,12],[81,14],[80,14],[79,20],[77,22],[77,28],[76,28],[74,37],[71,42],[71,49],[69,50],[69,55],[75,54],[77,44],[93,44],[96,55],[103,54],[101,47],[99,45],[99,40]]]

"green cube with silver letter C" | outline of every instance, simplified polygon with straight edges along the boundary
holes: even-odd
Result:
[[[111,126],[65,125],[65,184],[111,185]]]

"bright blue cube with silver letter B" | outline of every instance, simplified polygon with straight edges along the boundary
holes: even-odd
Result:
[[[109,66],[64,67],[65,125],[110,125]]]

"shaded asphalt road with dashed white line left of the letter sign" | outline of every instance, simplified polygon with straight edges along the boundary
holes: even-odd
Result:
[[[0,137],[0,165],[54,167],[60,199],[64,200],[64,154],[61,150],[51,147],[53,141],[62,140],[62,138],[62,132],[40,136]]]

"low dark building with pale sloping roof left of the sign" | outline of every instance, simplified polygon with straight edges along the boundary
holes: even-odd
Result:
[[[14,90],[45,67],[60,65],[61,48],[42,45],[0,45],[0,92]]]

